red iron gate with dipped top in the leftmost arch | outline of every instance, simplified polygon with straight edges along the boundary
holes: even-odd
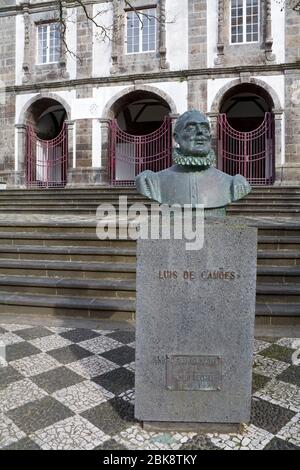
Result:
[[[67,125],[52,140],[42,140],[32,126],[26,131],[27,187],[57,188],[67,182]]]

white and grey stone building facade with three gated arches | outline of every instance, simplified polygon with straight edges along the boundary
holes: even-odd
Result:
[[[171,164],[172,123],[194,108],[220,169],[299,183],[299,12],[276,0],[85,4],[0,2],[8,188],[134,184]]]

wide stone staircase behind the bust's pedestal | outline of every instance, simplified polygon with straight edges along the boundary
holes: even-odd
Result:
[[[133,320],[135,242],[95,229],[98,205],[124,194],[145,202],[134,189],[0,191],[0,314]],[[300,188],[267,187],[228,211],[258,227],[258,321],[299,323],[299,209]]]

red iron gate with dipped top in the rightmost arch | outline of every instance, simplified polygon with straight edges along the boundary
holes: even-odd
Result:
[[[250,184],[273,184],[275,175],[274,116],[266,113],[254,131],[239,132],[226,114],[218,120],[219,169],[229,175],[243,175]]]

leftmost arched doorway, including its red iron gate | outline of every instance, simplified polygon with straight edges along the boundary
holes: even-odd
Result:
[[[63,187],[67,178],[66,110],[53,98],[41,98],[26,114],[27,187]]]

